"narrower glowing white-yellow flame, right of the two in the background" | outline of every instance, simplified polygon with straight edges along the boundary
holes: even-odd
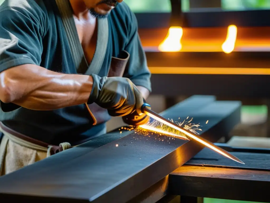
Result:
[[[234,50],[236,37],[237,37],[237,27],[235,25],[230,25],[228,27],[226,40],[221,46],[222,50],[226,54],[229,54]]]

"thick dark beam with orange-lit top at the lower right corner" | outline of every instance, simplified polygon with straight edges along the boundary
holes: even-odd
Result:
[[[270,172],[181,166],[169,175],[172,195],[270,202]]]

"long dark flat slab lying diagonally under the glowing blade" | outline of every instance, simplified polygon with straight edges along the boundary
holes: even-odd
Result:
[[[241,103],[214,99],[194,96],[162,115],[191,116],[202,125],[209,120],[201,136],[215,142],[240,121]],[[127,202],[203,148],[194,141],[127,133],[100,147],[87,142],[1,177],[0,200]]]

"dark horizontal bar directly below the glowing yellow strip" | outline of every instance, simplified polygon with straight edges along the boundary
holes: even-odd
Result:
[[[161,84],[160,81],[166,81],[166,83]],[[265,87],[270,86],[269,75],[152,74],[151,84],[152,94],[169,97],[212,94],[228,97],[270,98],[270,92],[265,91]]]

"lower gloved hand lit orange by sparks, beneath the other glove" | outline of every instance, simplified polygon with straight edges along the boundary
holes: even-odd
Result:
[[[146,103],[146,101],[143,100],[143,103]],[[140,112],[135,111],[129,115],[123,116],[122,119],[128,125],[139,126],[146,124],[150,120],[150,117],[146,114],[139,115],[139,113]]]

